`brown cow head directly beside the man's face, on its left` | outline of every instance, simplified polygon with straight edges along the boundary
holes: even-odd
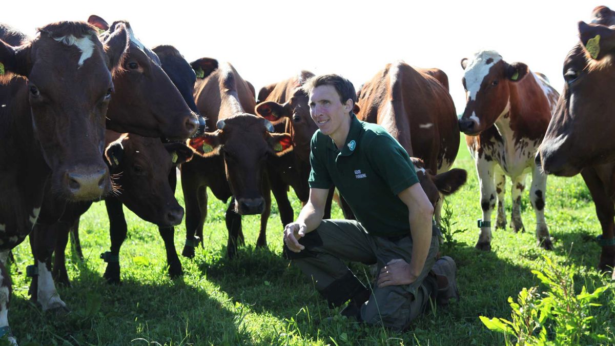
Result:
[[[309,113],[308,94],[299,87],[293,90],[292,97],[284,104],[274,101],[256,105],[256,115],[276,122],[282,117],[290,119],[293,126],[293,145],[295,155],[304,162],[309,162],[310,141],[318,129]]]

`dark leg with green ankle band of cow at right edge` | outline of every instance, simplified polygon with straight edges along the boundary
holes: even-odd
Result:
[[[581,176],[589,188],[589,192],[592,194],[593,204],[596,208],[596,214],[600,225],[602,227],[602,239],[603,241],[613,241],[615,223],[613,217],[615,216],[615,204],[613,199],[609,197],[605,184],[610,182],[604,182],[600,179],[595,167],[587,167],[581,171]],[[600,253],[600,262],[598,262],[598,269],[603,272],[611,270],[615,267],[615,246],[607,245],[602,246]],[[615,273],[615,270],[613,270]],[[613,274],[615,276],[615,274]]]

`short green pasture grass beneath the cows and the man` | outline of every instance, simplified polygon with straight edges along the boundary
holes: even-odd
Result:
[[[600,248],[592,239],[601,230],[580,176],[549,177],[546,217],[555,238],[554,251],[536,246],[534,213],[525,193],[522,210],[527,231],[494,231],[492,251],[479,252],[474,249],[476,220],[481,217],[478,183],[465,145],[455,166],[467,169],[469,179],[448,201],[454,211],[452,220],[458,222],[455,228],[467,231],[457,234],[459,243],[443,248],[443,254],[458,264],[462,299],[447,310],[419,318],[411,331],[392,332],[341,318],[320,323],[336,312],[328,310],[311,282],[280,257],[282,227],[275,203],[268,225],[269,248],[254,247],[259,217],[244,217],[246,246],[240,247],[236,259],[226,259],[226,206],[213,196],[205,246],[197,249],[192,260],[181,257],[185,275],[173,281],[166,273],[157,228],[127,211],[129,233],[120,254],[119,286],[110,286],[102,278],[105,263],[99,255],[109,249],[108,220],[104,204],[95,204],[81,219],[85,260],[67,255],[72,286],[58,289],[71,309],[67,314],[43,313],[30,302],[30,280],[24,273],[32,260],[25,241],[15,249],[16,264],[10,267],[14,281],[10,326],[20,345],[502,345],[504,337],[485,328],[478,316],[509,318],[507,298],[517,297],[523,287],[539,285],[531,270],[542,267],[542,255],[574,264],[579,291],[582,284],[593,289],[608,282],[595,270]],[[507,184],[510,188],[510,181]],[[179,190],[177,197],[183,204]],[[292,203],[297,214],[300,203],[294,196]],[[510,225],[510,190],[506,203]],[[333,214],[341,217],[339,209]],[[178,252],[184,239],[181,225],[175,232]],[[367,283],[367,269],[352,268]],[[608,284],[600,299],[603,306],[592,308],[592,328],[615,343],[615,294],[613,284]]]

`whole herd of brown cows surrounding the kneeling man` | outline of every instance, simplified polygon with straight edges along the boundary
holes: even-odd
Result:
[[[300,201],[308,199],[310,139],[317,127],[301,86],[312,73],[301,71],[257,95],[229,63],[188,63],[172,46],[144,46],[128,22],[108,25],[94,15],[88,22],[52,23],[34,39],[0,25],[0,335],[13,344],[7,320],[12,287],[4,266],[9,251],[30,235],[30,294],[43,310],[66,308],[54,282],[68,283],[69,231],[76,232],[92,201],[105,199],[111,249],[101,259],[106,280],[119,283],[127,233],[122,205],[159,226],[175,277],[182,268],[173,227],[185,216],[182,255],[194,257],[204,237],[208,188],[230,199],[229,257],[244,240],[241,215],[261,215],[256,244],[266,246],[271,193],[284,225],[294,217],[288,188]],[[466,171],[451,169],[460,132],[466,134],[480,182],[476,247],[483,251],[491,249],[496,206],[494,226],[506,227],[506,176],[512,227],[519,231],[520,196],[531,172],[536,238],[552,249],[544,217],[547,174],[581,172],[603,229],[598,268],[610,270],[615,121],[607,117],[615,109],[615,26],[609,25],[615,25],[615,12],[604,6],[593,10],[592,23],[579,22],[561,95],[525,63],[485,50],[461,60],[467,105],[459,119],[446,74],[404,62],[386,65],[363,84],[354,112],[383,126],[413,156],[438,221],[442,196],[466,182]],[[178,166],[186,215],[174,197]],[[352,218],[343,196],[339,203]]]

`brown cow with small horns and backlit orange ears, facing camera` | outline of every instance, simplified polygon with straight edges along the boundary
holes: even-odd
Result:
[[[255,98],[248,84],[229,63],[218,66],[211,58],[191,63],[198,80],[194,88],[197,108],[209,128],[189,141],[197,154],[181,167],[181,186],[186,203],[186,246],[183,255],[194,256],[195,233],[202,239],[207,215],[207,187],[216,198],[228,199],[226,226],[228,255],[237,251],[241,215],[261,214],[257,246],[266,246],[266,224],[271,207],[268,182],[264,177],[269,156],[292,150],[290,135],[274,134],[269,121],[245,113],[253,110]],[[215,124],[215,126],[212,126]]]

